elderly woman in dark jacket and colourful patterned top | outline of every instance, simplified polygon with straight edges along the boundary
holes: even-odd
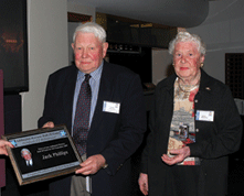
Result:
[[[242,121],[230,89],[202,70],[205,47],[180,32],[170,42],[176,75],[160,81],[142,153],[140,190],[150,196],[224,196],[227,155]]]

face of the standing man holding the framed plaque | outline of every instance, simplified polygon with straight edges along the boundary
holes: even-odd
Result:
[[[108,43],[100,43],[93,33],[78,32],[72,47],[76,67],[85,74],[91,74],[99,67],[106,56]]]

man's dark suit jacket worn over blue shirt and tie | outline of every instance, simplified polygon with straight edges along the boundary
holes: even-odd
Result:
[[[77,68],[64,67],[49,78],[44,111],[39,127],[47,121],[72,127],[72,106]],[[104,112],[104,101],[120,104],[119,113]],[[97,104],[87,138],[87,156],[104,155],[108,167],[92,176],[93,196],[129,195],[130,156],[146,131],[146,111],[139,76],[129,69],[104,62]],[[70,194],[71,177],[51,183],[50,193]]]

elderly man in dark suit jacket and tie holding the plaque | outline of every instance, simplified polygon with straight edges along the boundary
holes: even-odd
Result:
[[[130,156],[146,131],[140,78],[103,61],[108,43],[96,23],[77,26],[72,47],[75,65],[50,76],[39,127],[65,123],[85,161],[50,195],[129,195]]]

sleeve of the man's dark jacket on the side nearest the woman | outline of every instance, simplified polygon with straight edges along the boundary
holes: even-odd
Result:
[[[138,149],[146,131],[146,109],[139,76],[123,83],[120,92],[124,99],[120,104],[120,120],[117,126],[117,137],[102,152],[114,175],[124,162]],[[126,85],[127,84],[127,85]],[[126,86],[125,86],[126,85]]]

